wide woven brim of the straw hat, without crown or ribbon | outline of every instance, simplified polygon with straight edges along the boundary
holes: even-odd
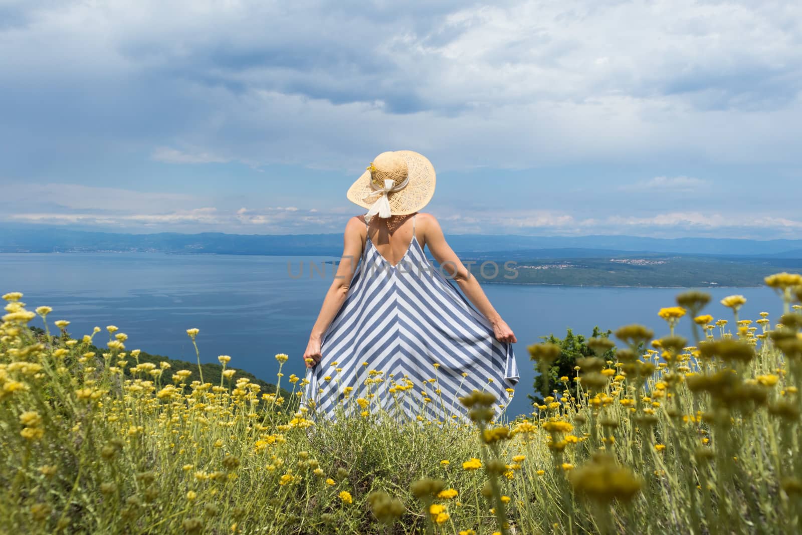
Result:
[[[394,216],[403,216],[418,212],[431,201],[435,194],[435,168],[426,156],[414,151],[395,151],[407,162],[409,182],[402,190],[387,195],[390,202],[390,213]],[[371,172],[363,172],[354,184],[348,188],[346,197],[355,205],[365,209],[371,208],[378,198],[377,195],[368,197],[375,189],[371,187]],[[367,200],[366,200],[367,199]]]

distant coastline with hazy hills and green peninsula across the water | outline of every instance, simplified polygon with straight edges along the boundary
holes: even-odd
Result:
[[[802,270],[802,240],[456,234],[448,241],[480,282],[508,286],[745,288],[762,286],[773,273]],[[342,234],[124,234],[0,225],[0,253],[328,257],[321,265],[335,265]],[[514,279],[503,277],[507,262],[516,265]],[[490,268],[484,274],[483,265]]]

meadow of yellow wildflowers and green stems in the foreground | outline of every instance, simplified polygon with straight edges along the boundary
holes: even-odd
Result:
[[[766,284],[783,302],[779,318],[739,318],[739,295],[722,300],[730,317],[713,318],[709,295],[685,292],[655,311],[665,333],[627,325],[592,338],[596,355],[614,358],[579,359],[571,376],[553,376],[559,347],[533,344],[533,365],[552,379],[543,403],[499,416],[496,399],[474,391],[460,399],[470,421],[398,421],[379,411],[371,385],[343,399],[336,421],[316,419],[298,403],[305,379],[281,371],[287,355],[275,357],[286,394],[262,391],[226,355],[219,382],[205,382],[200,358],[192,369],[140,362],[116,326],[73,338],[49,307],[26,310],[22,294],[5,294],[0,525],[799,533],[802,276]],[[674,334],[678,322],[691,322],[694,340]],[[198,330],[187,334],[195,344]],[[435,387],[436,368],[431,379]],[[399,384],[394,395],[423,406],[422,387]]]

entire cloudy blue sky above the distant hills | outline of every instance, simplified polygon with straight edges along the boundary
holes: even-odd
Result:
[[[447,233],[799,237],[802,2],[0,0],[0,222],[341,232],[379,152]]]

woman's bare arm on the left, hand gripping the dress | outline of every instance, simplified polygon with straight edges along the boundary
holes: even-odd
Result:
[[[337,274],[334,276],[334,281],[331,282],[329,290],[326,292],[326,298],[323,299],[323,305],[320,307],[318,319],[314,322],[312,332],[309,336],[309,342],[306,344],[306,351],[303,354],[306,367],[314,367],[315,364],[320,362],[322,355],[320,353],[320,345],[323,339],[323,334],[329,328],[331,320],[337,315],[338,310],[348,297],[348,290],[350,290],[350,281],[354,277],[356,265],[359,262],[359,257],[362,256],[362,250],[365,245],[363,241],[367,237],[363,237],[365,232],[365,223],[359,217],[351,217],[346,225],[346,231],[343,236],[342,258],[337,268]]]

